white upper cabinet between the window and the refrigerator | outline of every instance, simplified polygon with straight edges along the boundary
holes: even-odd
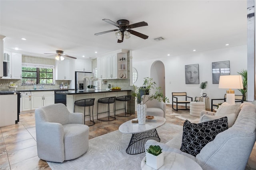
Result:
[[[63,61],[55,61],[55,77],[56,80],[71,80],[72,61],[64,59]]]

